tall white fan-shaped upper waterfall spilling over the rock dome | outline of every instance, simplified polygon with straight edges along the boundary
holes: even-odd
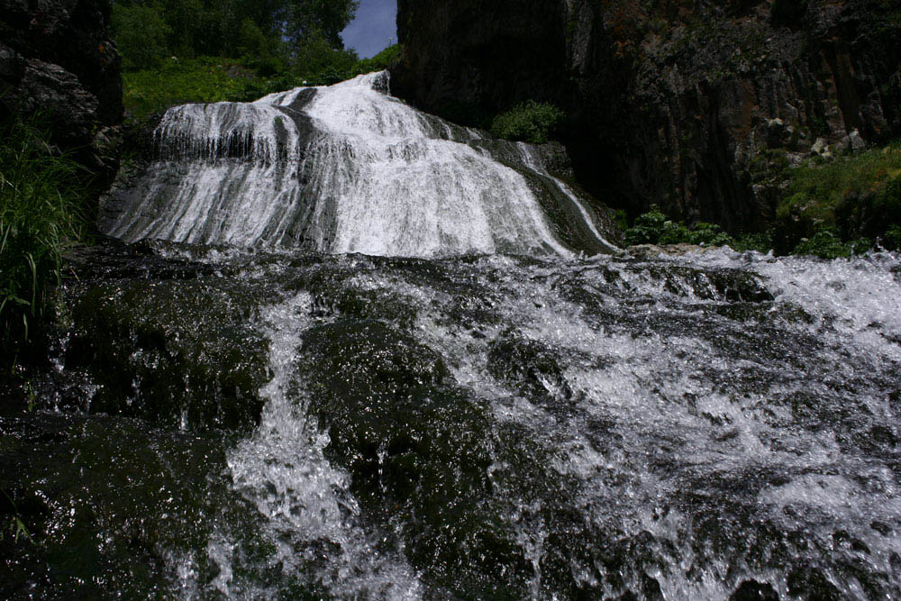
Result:
[[[170,109],[159,161],[118,213],[106,207],[106,232],[379,256],[571,254],[523,175],[467,143],[478,134],[386,88],[383,72]],[[509,145],[523,168],[547,175],[527,147]],[[608,247],[572,190],[551,181]]]

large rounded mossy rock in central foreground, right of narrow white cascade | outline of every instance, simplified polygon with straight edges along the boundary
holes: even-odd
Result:
[[[367,511],[400,533],[408,559],[464,596],[526,595],[534,567],[511,516],[557,520],[569,486],[532,433],[497,423],[441,357],[385,323],[314,327],[302,356],[330,458]]]

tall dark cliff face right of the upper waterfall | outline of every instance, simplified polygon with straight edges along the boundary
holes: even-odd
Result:
[[[734,232],[769,223],[772,163],[901,134],[899,15],[876,0],[400,0],[394,92],[471,121],[556,103],[595,196]]]

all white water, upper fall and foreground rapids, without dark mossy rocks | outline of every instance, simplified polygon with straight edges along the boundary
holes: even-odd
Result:
[[[260,391],[259,430],[230,452],[228,466],[233,492],[265,521],[270,563],[338,598],[469,592],[452,578],[433,584],[448,576],[437,564],[410,565],[403,541],[419,518],[396,508],[379,522],[361,509],[348,473],[326,459],[329,436],[307,415],[317,399],[296,376],[305,330],[378,320],[441,357],[454,385],[486,402],[496,432],[513,424],[524,433],[516,460],[543,478],[505,488],[523,466],[498,459],[487,478],[501,485],[484,499],[512,508],[493,517],[532,566],[523,596],[558,598],[548,558],[561,547],[568,554],[557,577],[610,598],[642,590],[643,578],[667,599],[727,599],[747,579],[788,598],[798,587],[792,575],[808,567],[842,597],[901,590],[895,255],[827,262],[714,250],[572,260],[520,172],[492,159],[478,134],[387,96],[385,84],[376,74],[251,105],[173,109],[158,132],[163,159],[133,196],[138,208],[123,213],[133,218],[112,230],[126,240],[332,253],[567,258],[495,255],[427,267],[264,259],[266,268],[250,259],[242,277],[292,282],[271,284],[275,297],[288,298],[262,311],[273,377]],[[578,196],[531,148],[507,150],[559,187],[606,244]],[[243,260],[233,249],[187,249],[185,257],[196,260],[195,252]],[[715,284],[724,273],[752,278],[772,296],[729,298]],[[328,309],[315,319],[314,296]],[[348,298],[357,303],[341,305]],[[409,323],[405,311],[384,306],[409,310]],[[510,351],[505,341],[518,346]],[[534,490],[543,479],[575,484],[542,497]],[[596,548],[565,548],[561,529],[585,533],[575,540]],[[642,551],[649,539],[652,550]],[[623,541],[635,546],[621,557],[608,550]],[[460,553],[480,552],[457,543]],[[206,590],[249,590],[236,584],[235,545],[211,539],[206,552],[219,571],[200,583]],[[867,578],[882,588],[867,588]]]

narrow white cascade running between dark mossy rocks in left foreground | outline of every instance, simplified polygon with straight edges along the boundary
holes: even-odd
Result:
[[[260,391],[267,403],[258,432],[229,454],[233,486],[266,518],[264,535],[275,547],[269,561],[286,578],[317,581],[339,598],[421,598],[421,585],[403,555],[380,553],[373,533],[361,525],[349,477],[325,459],[329,437],[306,414],[295,362],[311,301],[301,293],[263,314],[273,378]],[[208,552],[214,555],[229,544],[211,542]],[[323,548],[329,550],[324,565]],[[214,585],[228,596],[232,558],[228,553],[214,558],[221,570]],[[252,596],[270,595],[257,590]]]

